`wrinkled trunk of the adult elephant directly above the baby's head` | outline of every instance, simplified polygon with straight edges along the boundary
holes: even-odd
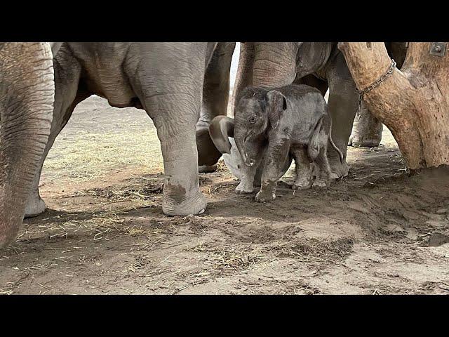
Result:
[[[291,42],[257,43],[254,51],[253,86],[279,88],[296,76],[297,46]]]

